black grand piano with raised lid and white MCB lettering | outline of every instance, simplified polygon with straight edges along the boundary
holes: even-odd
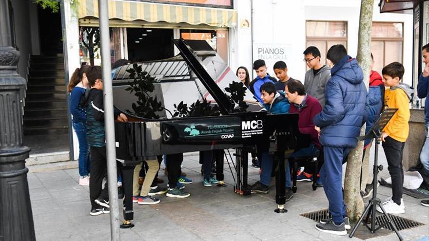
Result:
[[[180,56],[161,61],[138,63],[138,69],[155,78],[155,89],[149,93],[162,107],[159,118],[143,118],[136,113],[138,95],[130,93],[136,86],[130,64],[113,74],[114,105],[124,112],[127,123],[115,123],[117,159],[123,163],[124,224],[132,227],[132,182],[135,165],[147,157],[192,151],[235,149],[236,178],[234,191],[249,195],[247,185],[248,152],[271,151],[285,160],[297,144],[298,115],[271,114],[245,89],[241,102],[226,92],[235,73],[206,41],[175,39]],[[211,101],[219,116],[173,117],[175,104]],[[161,110],[162,109],[162,110]],[[221,154],[222,155],[222,154]],[[223,158],[216,162],[216,178],[223,181]],[[276,176],[276,212],[286,212],[284,162],[279,162]]]

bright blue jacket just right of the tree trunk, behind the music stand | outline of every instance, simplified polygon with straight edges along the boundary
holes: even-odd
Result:
[[[370,86],[367,96],[367,103],[365,106],[365,112],[367,114],[367,125],[365,128],[366,134],[368,134],[369,130],[375,124],[375,121],[377,120],[378,116],[380,116],[381,110],[383,109],[381,93],[380,86]],[[372,139],[366,139],[364,147],[367,148],[367,145],[370,144],[371,141]]]

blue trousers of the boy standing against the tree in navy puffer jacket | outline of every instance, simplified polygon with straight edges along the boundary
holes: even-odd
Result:
[[[351,148],[323,147],[325,163],[320,169],[320,180],[323,190],[329,201],[329,212],[332,220],[342,223],[347,216],[346,205],[343,200],[343,159],[349,154]]]

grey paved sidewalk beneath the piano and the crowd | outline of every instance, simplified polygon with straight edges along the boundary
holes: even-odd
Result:
[[[383,151],[380,162],[387,167]],[[372,151],[373,153],[373,151]],[[373,160],[373,159],[371,159]],[[251,165],[249,165],[251,166]],[[189,198],[176,199],[165,195],[156,205],[134,204],[134,221],[131,229],[121,229],[121,240],[135,241],[270,241],[311,240],[336,241],[359,240],[348,236],[321,233],[316,222],[299,214],[328,207],[323,188],[313,191],[311,183],[298,183],[298,190],[285,205],[287,213],[273,212],[275,187],[267,195],[239,196],[233,191],[233,178],[225,163],[227,187],[204,187],[200,174],[198,156],[185,156],[182,170],[194,183],[186,185]],[[164,173],[159,177],[167,181]],[[345,170],[345,168],[344,168]],[[389,176],[387,168],[380,176]],[[89,188],[78,185],[78,169],[65,169],[28,174],[30,199],[36,238],[39,241],[104,241],[110,239],[108,214],[90,216]],[[249,183],[259,178],[256,168],[249,168]],[[274,178],[273,178],[274,181]],[[274,182],[273,182],[274,183]],[[165,184],[161,184],[165,186]],[[379,198],[391,195],[391,189],[379,187]],[[367,203],[368,200],[365,200]],[[425,225],[401,231],[404,240],[428,240],[429,208],[420,205],[420,200],[404,195],[406,213],[399,215]],[[119,201],[119,205],[122,202]],[[121,209],[121,208],[120,208]],[[122,210],[120,210],[122,219]],[[370,239],[371,241],[398,240],[394,233]]]

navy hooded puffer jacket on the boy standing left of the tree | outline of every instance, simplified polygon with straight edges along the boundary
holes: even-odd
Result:
[[[362,69],[356,59],[345,56],[333,66],[325,97],[325,108],[313,118],[314,125],[321,128],[320,143],[356,147],[367,97]]]

